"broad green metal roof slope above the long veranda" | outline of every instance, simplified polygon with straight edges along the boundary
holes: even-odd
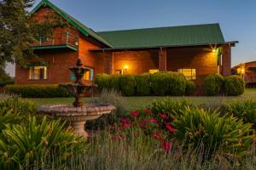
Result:
[[[97,32],[113,48],[148,48],[224,43],[218,24]]]

